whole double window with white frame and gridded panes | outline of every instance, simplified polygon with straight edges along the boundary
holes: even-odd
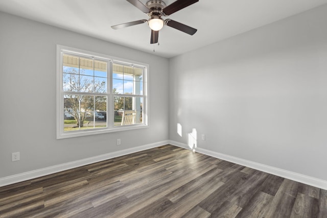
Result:
[[[148,126],[148,65],[57,45],[57,138]]]

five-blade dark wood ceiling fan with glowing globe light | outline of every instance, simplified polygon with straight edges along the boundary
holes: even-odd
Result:
[[[151,40],[150,40],[151,44],[158,42],[159,30],[161,30],[162,27],[164,27],[164,25],[175,28],[179,31],[182,31],[190,35],[194,35],[197,31],[197,29],[186,26],[183,23],[177,22],[175,20],[172,19],[164,20],[161,18],[161,16],[171,15],[176,11],[179,11],[196,2],[199,2],[199,0],[177,0],[176,2],[170,4],[169,6],[166,6],[166,4],[161,0],[150,0],[146,3],[146,5],[144,5],[139,0],[127,0],[127,2],[134,5],[142,12],[146,13],[149,16],[149,19],[136,20],[132,22],[122,23],[119,25],[114,25],[111,26],[112,29],[117,30],[117,29],[130,27],[130,26],[147,22],[149,27],[151,28]]]

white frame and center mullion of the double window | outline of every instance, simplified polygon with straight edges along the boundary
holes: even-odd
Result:
[[[71,53],[77,56],[97,58],[108,61],[108,74],[107,74],[107,93],[100,95],[107,96],[107,127],[104,128],[95,128],[87,130],[77,130],[77,131],[66,131],[64,132],[64,92],[63,92],[63,67],[62,67],[62,54]],[[114,126],[114,93],[112,92],[112,63],[121,63],[124,65],[131,65],[135,67],[144,68],[143,74],[143,117],[142,124],[133,124],[127,126]],[[123,94],[122,94],[123,95]],[[95,135],[102,133],[126,131],[126,130],[135,130],[141,128],[149,127],[149,64],[126,60],[122,58],[116,58],[104,54],[99,54],[95,52],[89,52],[85,50],[75,49],[73,47],[68,47],[64,45],[57,44],[57,139],[61,138],[71,138],[79,137],[86,135]]]

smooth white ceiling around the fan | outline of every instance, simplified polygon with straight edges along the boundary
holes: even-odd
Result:
[[[125,0],[0,0],[0,11],[170,58],[323,4],[327,0],[199,0],[169,16],[197,33],[190,36],[165,26],[159,46],[150,44],[146,23],[110,28],[148,18]]]

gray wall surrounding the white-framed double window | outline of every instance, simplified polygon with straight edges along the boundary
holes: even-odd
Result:
[[[56,44],[150,64],[150,128],[57,140]],[[0,178],[167,140],[168,64],[0,12]],[[12,152],[20,152],[20,161],[11,161]]]

